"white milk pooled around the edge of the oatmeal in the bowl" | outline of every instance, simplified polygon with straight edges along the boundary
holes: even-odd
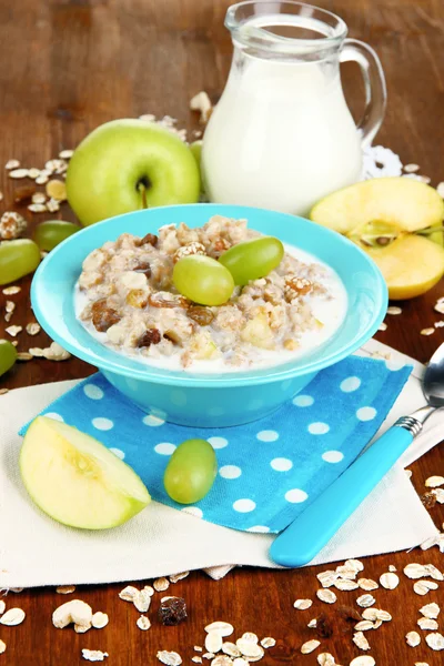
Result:
[[[297,260],[304,263],[316,263],[324,269],[324,275],[319,280],[331,294],[331,300],[326,300],[319,295],[306,296],[310,303],[314,316],[323,323],[321,329],[315,331],[307,331],[301,335],[300,347],[295,351],[273,351],[273,350],[256,350],[258,356],[255,356],[252,365],[233,366],[228,365],[223,357],[215,359],[213,361],[193,361],[192,365],[188,369],[183,369],[181,364],[181,350],[178,349],[176,353],[171,356],[162,356],[160,359],[153,356],[145,356],[140,353],[139,350],[134,349],[122,349],[119,350],[109,342],[107,333],[100,333],[94,329],[90,322],[81,322],[88,332],[99,342],[110,349],[119,351],[124,356],[129,356],[133,360],[140,361],[145,365],[152,365],[154,367],[162,367],[170,371],[179,371],[184,373],[236,373],[245,370],[259,370],[265,367],[272,367],[282,363],[287,363],[301,356],[304,356],[311,350],[324,344],[332,335],[337,331],[345,319],[347,311],[347,295],[345,287],[340,276],[331,269],[327,264],[323,263],[313,254],[304,252],[294,245],[284,244],[285,252],[295,256]],[[79,317],[82,310],[85,307],[88,299],[83,292],[75,286],[74,291],[74,310],[75,315]]]

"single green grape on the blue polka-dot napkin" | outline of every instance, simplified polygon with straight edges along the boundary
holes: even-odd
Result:
[[[186,440],[167,465],[163,485],[171,500],[193,504],[211,490],[218,473],[218,458],[205,440]]]

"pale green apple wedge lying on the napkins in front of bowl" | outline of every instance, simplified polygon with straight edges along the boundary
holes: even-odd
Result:
[[[20,473],[36,504],[72,527],[115,527],[151,500],[135,472],[103,444],[46,416],[28,428]]]

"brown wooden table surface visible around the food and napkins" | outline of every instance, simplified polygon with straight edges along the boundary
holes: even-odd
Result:
[[[0,164],[17,158],[24,165],[42,167],[64,148],[75,144],[98,124],[142,113],[170,114],[181,127],[196,129],[189,100],[206,90],[213,100],[221,93],[231,59],[231,43],[223,28],[228,0],[21,0],[0,3]],[[444,180],[444,132],[442,104],[444,91],[444,18],[440,0],[319,0],[319,4],[341,14],[352,37],[361,38],[379,52],[387,78],[390,103],[379,141],[390,145],[404,162],[417,162],[433,183]],[[359,113],[362,90],[356,88],[357,70],[344,68],[351,107]],[[12,205],[13,191],[21,183],[1,173],[4,194],[2,210]],[[21,210],[18,208],[18,210]],[[31,224],[42,216],[24,214]],[[63,208],[59,214],[73,219]],[[27,324],[30,280],[20,282],[22,291],[13,300],[18,310],[14,324]],[[420,331],[440,319],[433,305],[442,294],[437,286],[423,297],[402,304],[400,316],[387,317],[389,327],[377,337],[421,361],[426,361],[442,342],[441,330],[425,337]],[[6,297],[0,293],[0,309]],[[0,335],[4,322],[0,323]],[[27,350],[26,334],[19,337]],[[43,346],[43,333],[32,340]],[[1,379],[1,386],[14,389],[49,381],[83,377],[93,372],[85,363],[71,359],[64,363],[34,360],[18,363]],[[0,397],[1,400],[1,397]],[[424,480],[443,474],[443,454],[436,447],[415,465],[413,482],[424,493]],[[432,516],[441,525],[443,507]],[[19,519],[19,518],[18,518]],[[2,534],[1,539],[8,538]],[[394,564],[398,571],[410,562],[434,563],[443,569],[437,548],[425,553],[398,553],[365,558],[365,575],[377,578]],[[32,566],[32,555],[30,554]],[[1,564],[1,563],[0,563]],[[121,585],[83,587],[75,596],[105,610],[111,618],[102,632],[77,635],[58,630],[51,613],[67,597],[53,589],[24,591],[12,602],[28,614],[19,627],[1,627],[8,645],[0,664],[8,666],[64,666],[84,663],[82,647],[100,648],[110,654],[113,666],[157,664],[158,649],[178,649],[184,664],[191,663],[192,646],[202,645],[203,627],[213,619],[226,619],[236,633],[255,632],[274,636],[278,646],[266,653],[263,664],[316,663],[316,653],[302,656],[303,642],[314,637],[306,628],[311,617],[326,615],[334,633],[322,639],[322,649],[331,652],[340,664],[349,664],[359,649],[352,644],[350,623],[339,618],[340,605],[353,605],[356,592],[339,593],[340,602],[327,606],[315,602],[304,613],[292,608],[295,598],[314,598],[315,574],[327,567],[295,572],[238,569],[221,582],[202,573],[178,583],[173,594],[186,599],[190,616],[178,628],[153,627],[140,632],[138,614],[118,598]],[[442,664],[443,653],[422,645],[407,647],[404,636],[415,628],[418,608],[428,601],[444,602],[443,584],[427,597],[412,592],[412,582],[401,574],[395,592],[379,589],[377,605],[393,614],[393,622],[367,634],[371,654],[379,666]],[[11,596],[8,605],[11,605]],[[159,598],[159,597],[158,597]],[[443,604],[444,605],[444,604]],[[441,630],[443,623],[441,620]]]

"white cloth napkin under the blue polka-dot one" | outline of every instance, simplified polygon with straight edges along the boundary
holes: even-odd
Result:
[[[386,357],[387,363],[412,362],[375,341],[361,353]],[[424,404],[423,366],[416,362],[381,432]],[[0,397],[0,588],[137,581],[198,568],[218,578],[233,565],[275,566],[268,557],[273,536],[220,527],[154,502],[125,525],[107,532],[71,529],[41,513],[20,480],[17,432],[74,383],[18,389]],[[441,441],[444,414],[434,418],[435,426],[415,441],[404,465]],[[437,532],[400,464],[313,564],[410,548]]]

